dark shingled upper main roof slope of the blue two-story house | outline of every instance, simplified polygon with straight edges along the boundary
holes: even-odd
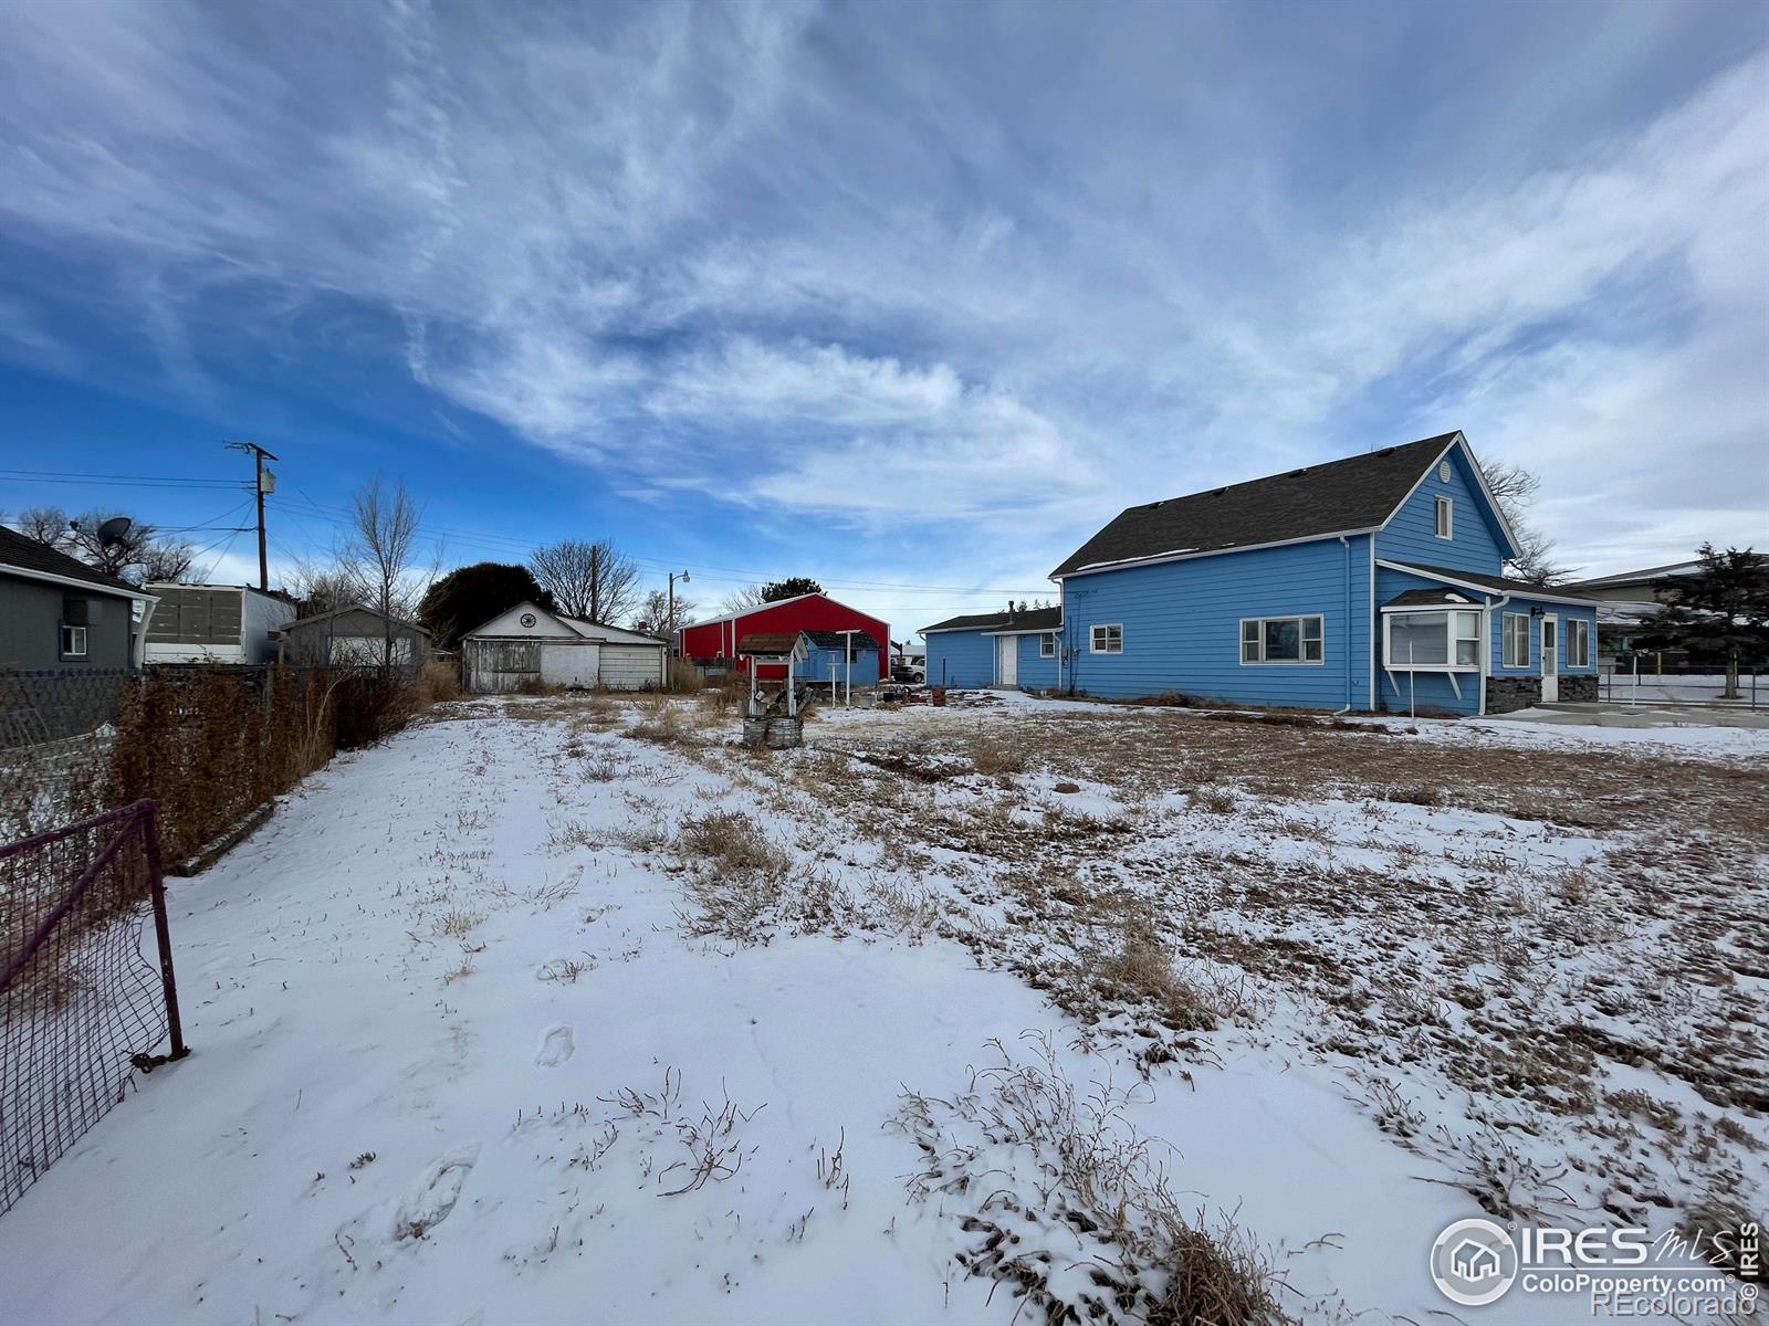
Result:
[[[1440,433],[1364,456],[1125,507],[1051,575],[1166,553],[1226,552],[1376,529],[1454,438],[1456,433]]]

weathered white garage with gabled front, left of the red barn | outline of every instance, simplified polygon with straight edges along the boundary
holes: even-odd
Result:
[[[669,682],[663,640],[518,603],[460,638],[462,684],[472,695],[532,686],[642,691]]]

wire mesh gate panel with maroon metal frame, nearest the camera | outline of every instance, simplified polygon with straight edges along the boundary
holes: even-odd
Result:
[[[0,1215],[184,1054],[154,803],[0,847]]]

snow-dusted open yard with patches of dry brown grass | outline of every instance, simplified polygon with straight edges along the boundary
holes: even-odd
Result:
[[[173,882],[0,1321],[1136,1317],[1185,1231],[1426,1321],[1459,1216],[1762,1216],[1765,734],[1417,727],[462,705]]]

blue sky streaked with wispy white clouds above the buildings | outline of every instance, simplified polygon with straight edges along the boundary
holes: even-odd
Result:
[[[1769,543],[1760,4],[14,0],[0,180],[0,509],[223,578],[235,437],[274,560],[380,472],[897,628],[1451,428],[1592,573]]]

